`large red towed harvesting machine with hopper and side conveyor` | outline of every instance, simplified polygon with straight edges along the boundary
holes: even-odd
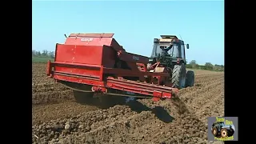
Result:
[[[127,53],[114,34],[70,34],[65,44],[57,44],[54,62],[47,63],[46,74],[57,81],[91,86],[95,94],[132,92],[146,97],[171,98],[178,89],[170,87],[166,73],[149,72],[147,57]],[[125,63],[125,64],[124,64]],[[125,67],[123,67],[125,66]],[[133,79],[136,80],[126,80]],[[156,84],[150,84],[158,79]],[[159,86],[164,83],[166,86]],[[163,84],[161,84],[163,85]]]

